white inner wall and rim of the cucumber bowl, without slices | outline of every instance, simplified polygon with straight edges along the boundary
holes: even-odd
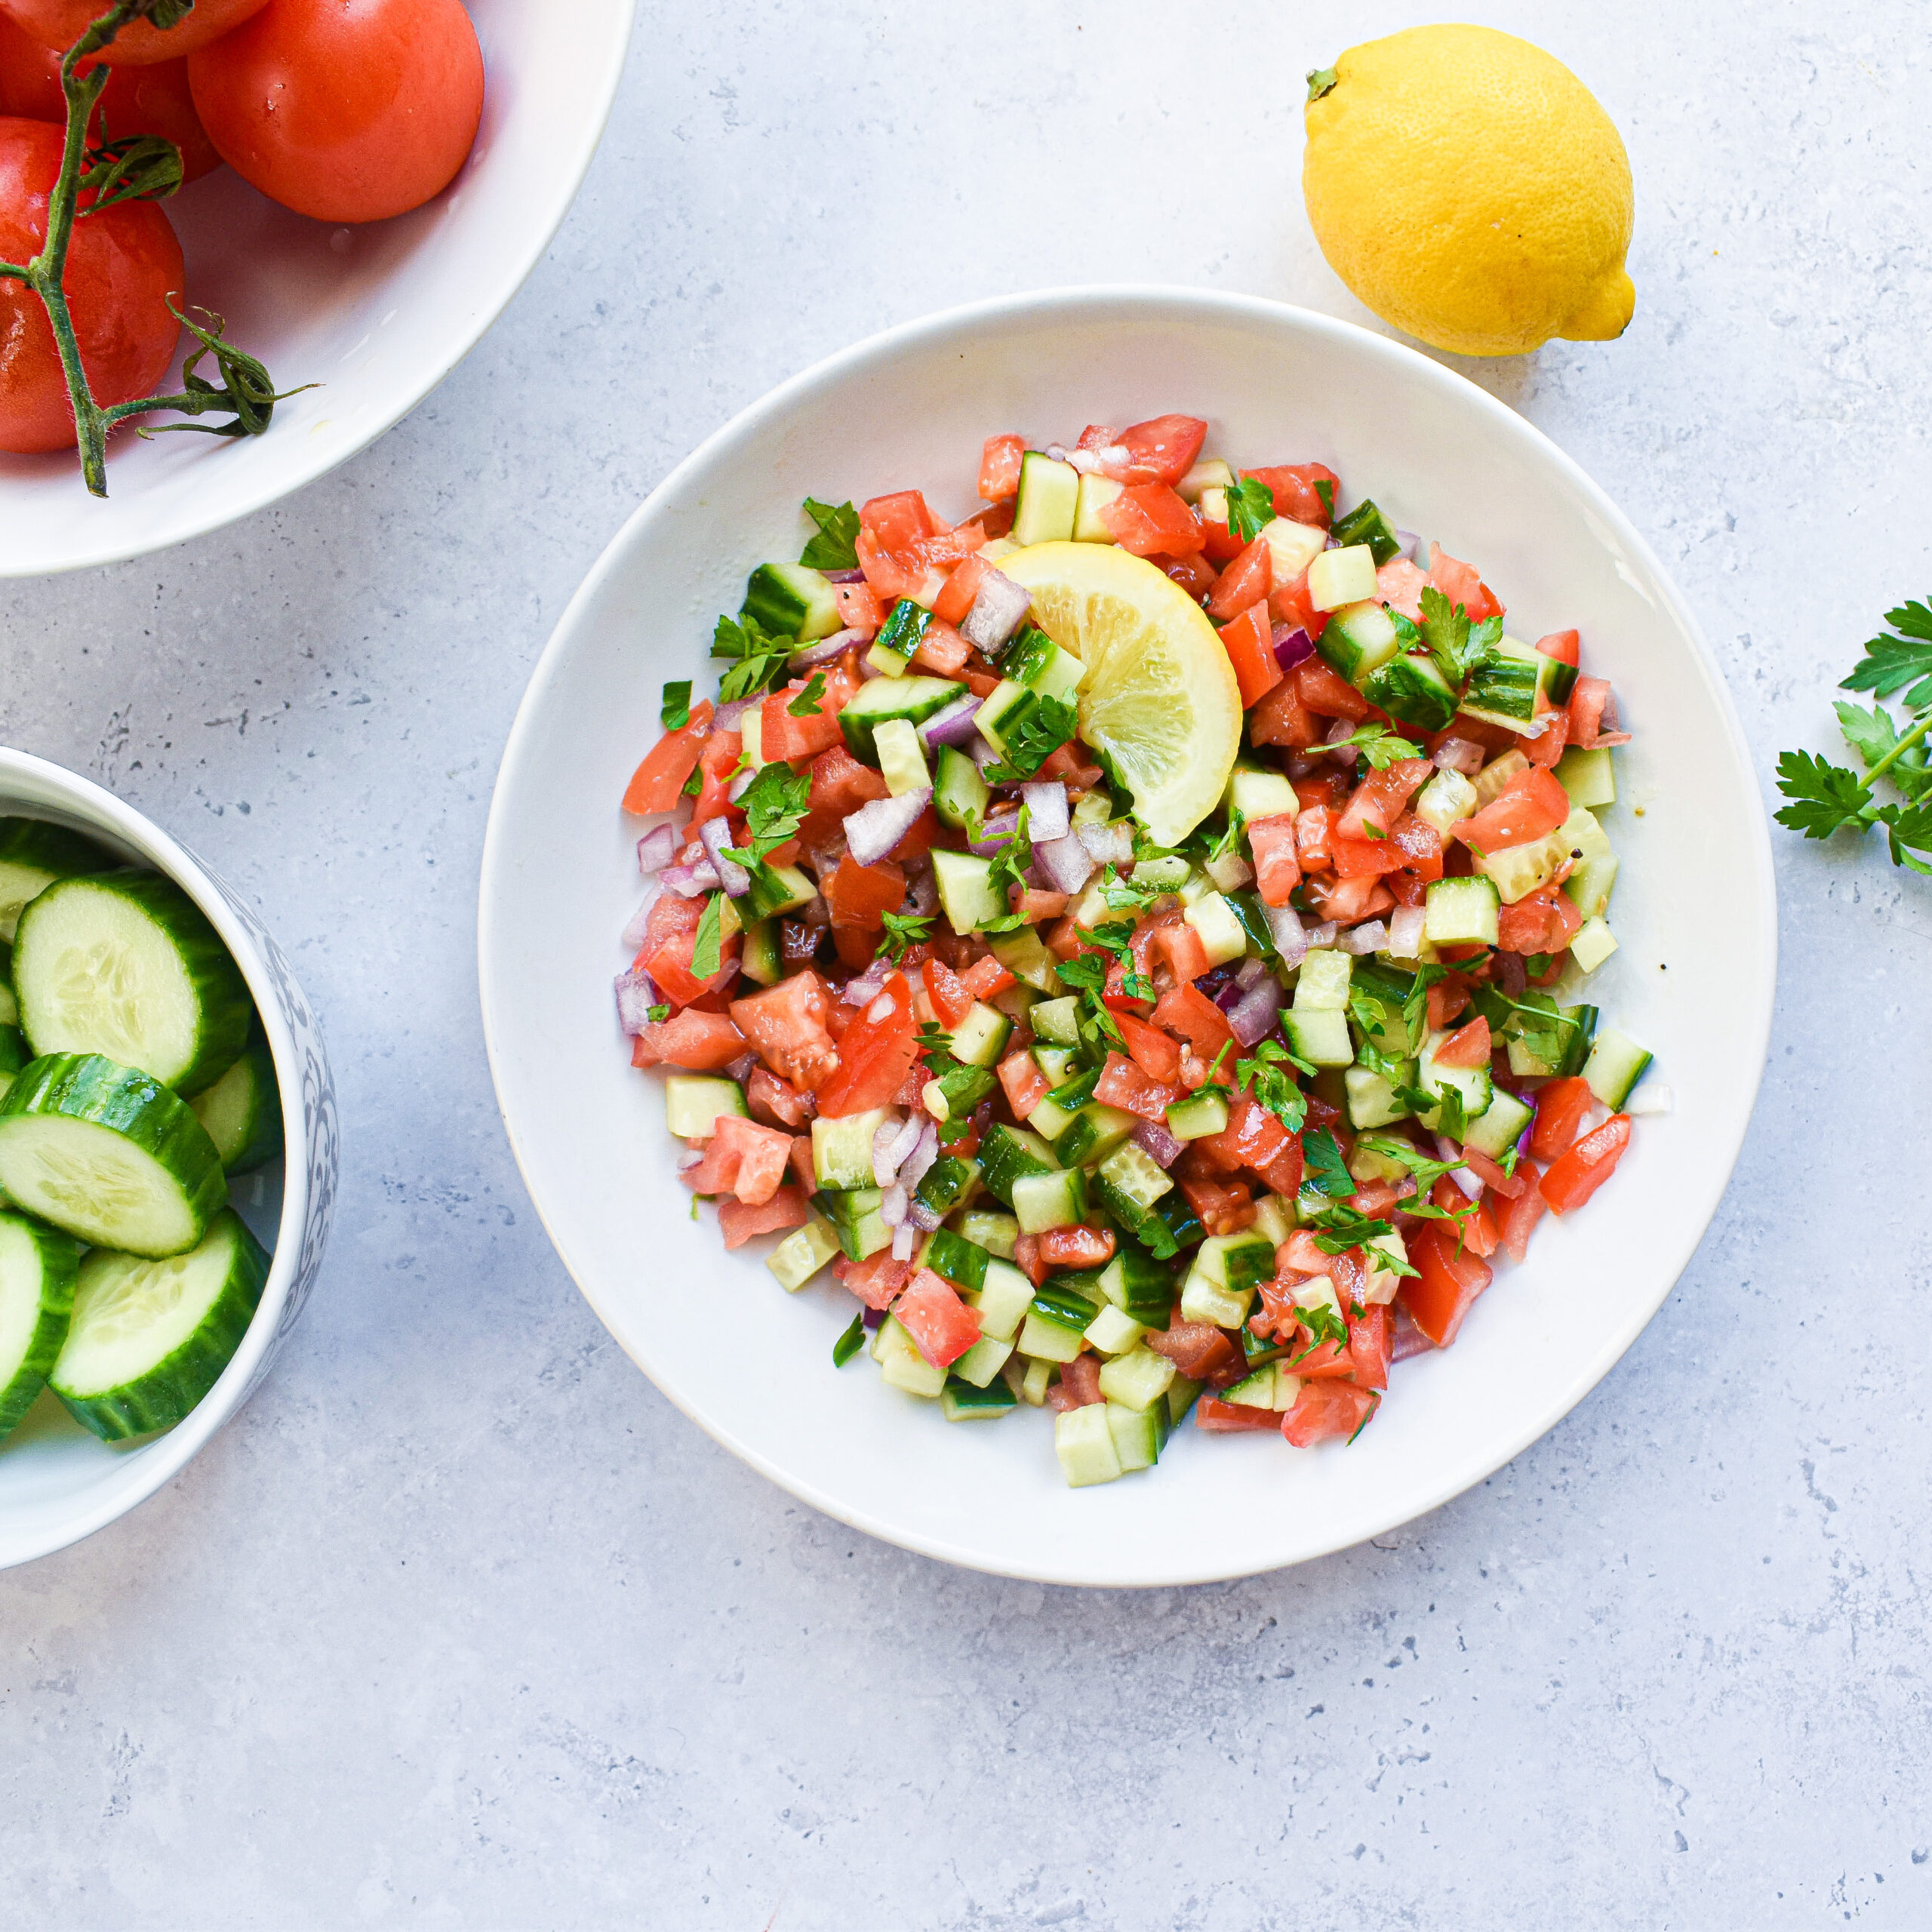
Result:
[[[147,827],[137,813],[108,794],[97,792],[95,786],[58,767],[12,752],[0,753],[0,813],[50,819],[87,833],[128,864],[168,873],[218,925],[234,923],[220,895],[193,869],[184,867],[172,840]],[[232,931],[224,929],[222,937],[228,939],[230,952],[249,981],[274,1051],[284,1138],[288,1146],[301,1148],[301,1080],[299,1072],[292,1072],[294,1049],[288,1028],[261,960],[249,947],[238,943]],[[274,1335],[294,1258],[301,1248],[299,1196],[299,1188],[286,1186],[282,1159],[253,1175],[236,1177],[230,1186],[236,1213],[274,1254],[274,1265],[242,1347],[193,1414],[160,1435],[133,1443],[104,1443],[83,1430],[54,1395],[43,1389],[19,1428],[0,1441],[0,1567],[58,1549],[131,1509],[182,1468],[240,1406]]]

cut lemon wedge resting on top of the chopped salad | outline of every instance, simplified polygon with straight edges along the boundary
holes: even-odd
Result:
[[[1111,543],[1036,543],[999,570],[1086,665],[1080,736],[1107,753],[1148,835],[1179,844],[1221,804],[1240,748],[1240,690],[1208,612]]]

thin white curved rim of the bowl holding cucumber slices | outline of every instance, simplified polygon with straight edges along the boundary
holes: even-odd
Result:
[[[303,1264],[311,1260],[303,1252],[303,1231],[309,1219],[309,1163],[303,1157],[307,1136],[301,1053],[282,1012],[274,978],[261,956],[253,933],[247,931],[236,916],[228,895],[214,885],[201,864],[158,825],[135,811],[133,806],[124,804],[91,779],[83,779],[62,765],[0,746],[0,811],[25,810],[27,817],[46,813],[50,808],[44,806],[15,806],[15,794],[10,784],[15,779],[31,779],[35,784],[71,800],[73,823],[81,831],[106,831],[126,840],[156,871],[174,879],[209,916],[209,923],[220,933],[222,945],[228,947],[236,966],[242,968],[242,978],[247,980],[247,989],[255,999],[255,1010],[261,1014],[261,1026],[269,1039],[269,1051],[274,1057],[274,1074],[282,1097],[282,1138],[288,1159],[284,1163],[282,1213],[276,1225],[269,1279],[263,1285],[261,1302],[247,1325],[247,1333],[242,1337],[242,1347],[236,1349],[220,1379],[182,1422],[141,1447],[139,1463],[133,1464],[139,1470],[137,1482],[104,1486],[108,1488],[104,1497],[66,1517],[58,1528],[48,1528],[37,1538],[23,1536],[17,1544],[12,1540],[0,1542],[0,1565],[29,1563],[35,1557],[77,1544],[83,1536],[93,1536],[95,1530],[106,1528],[106,1524],[124,1517],[129,1509],[135,1509],[156,1490],[172,1482],[251,1393],[259,1372],[267,1364],[269,1350],[282,1335],[282,1316],[290,1298],[290,1287]]]

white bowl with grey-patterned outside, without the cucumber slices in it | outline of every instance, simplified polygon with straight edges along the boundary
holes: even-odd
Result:
[[[66,1422],[50,1395],[0,1443],[0,1569],[29,1563],[106,1528],[170,1482],[255,1393],[321,1273],[334,1219],[340,1132],[323,1032],[288,958],[243,904],[180,840],[99,784],[0,748],[0,813],[52,819],[89,833],[129,864],[176,881],[222,935],[255,995],[282,1090],[284,1161],[265,1171],[259,1200],[238,1208],[272,1248],[261,1306],[220,1381],[162,1435],[108,1445]],[[280,1208],[272,1202],[280,1169]],[[245,1182],[243,1182],[245,1186]]]

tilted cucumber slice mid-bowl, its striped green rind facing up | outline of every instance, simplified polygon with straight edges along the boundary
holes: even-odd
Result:
[[[184,1099],[99,1053],[50,1053],[0,1099],[0,1192],[97,1248],[185,1254],[226,1200]]]

